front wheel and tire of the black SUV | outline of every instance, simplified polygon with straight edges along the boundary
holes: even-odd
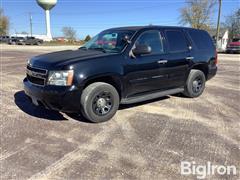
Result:
[[[83,116],[91,122],[110,120],[119,107],[119,94],[110,84],[96,82],[87,86],[81,96]]]

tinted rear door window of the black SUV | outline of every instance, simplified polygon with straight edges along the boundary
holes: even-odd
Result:
[[[186,51],[188,49],[185,36],[181,31],[166,31],[166,36],[170,52]]]

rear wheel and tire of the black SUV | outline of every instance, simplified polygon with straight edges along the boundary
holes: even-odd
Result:
[[[202,71],[192,69],[185,84],[183,94],[190,98],[199,97],[205,89],[206,78]]]

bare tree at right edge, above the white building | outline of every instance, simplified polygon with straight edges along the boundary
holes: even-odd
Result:
[[[223,26],[229,30],[230,39],[240,35],[240,8],[226,17]]]

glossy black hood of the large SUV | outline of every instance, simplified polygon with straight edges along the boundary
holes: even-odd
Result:
[[[30,65],[39,68],[50,68],[57,65],[66,65],[72,61],[86,60],[105,56],[101,51],[95,50],[66,50],[35,56],[30,60]]]

